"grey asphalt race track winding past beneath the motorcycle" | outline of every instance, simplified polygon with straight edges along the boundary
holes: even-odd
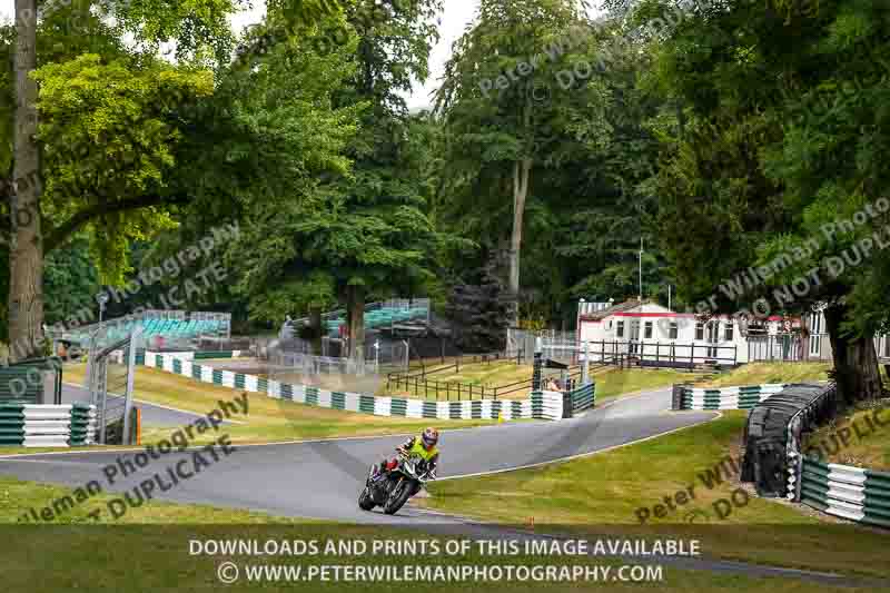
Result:
[[[671,413],[670,398],[670,389],[662,389],[605,404],[580,418],[444,432],[439,444],[439,477],[552,462],[691,426],[715,416],[704,412]],[[184,419],[186,423],[194,421]],[[425,521],[447,521],[411,507],[393,517],[358,508],[356,500],[368,466],[384,455],[392,455],[404,438],[403,435],[236,446],[237,451],[229,457],[158,497],[362,523],[409,523],[418,516]],[[80,452],[0,458],[0,474],[70,486],[99,480],[105,485],[102,467],[118,457],[130,458],[135,453]],[[190,455],[188,452],[170,453],[108,490],[132,488]]]

